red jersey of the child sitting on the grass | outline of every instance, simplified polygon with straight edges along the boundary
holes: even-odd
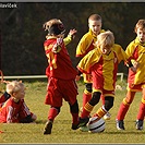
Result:
[[[9,98],[4,105],[0,108],[0,122],[1,123],[16,123],[21,119],[31,114],[31,112],[25,109],[24,99],[20,99],[15,102],[13,98]]]

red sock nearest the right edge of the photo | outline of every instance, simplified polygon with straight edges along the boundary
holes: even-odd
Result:
[[[137,120],[144,120],[144,117],[145,117],[145,104],[141,102],[137,113]]]

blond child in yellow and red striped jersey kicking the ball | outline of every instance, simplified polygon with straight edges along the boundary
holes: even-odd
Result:
[[[96,48],[89,51],[77,65],[82,73],[90,73],[93,76],[93,97],[83,108],[80,126],[87,124],[89,113],[99,102],[101,95],[105,96],[105,105],[94,116],[102,118],[112,108],[118,64],[122,60],[129,63],[128,59],[121,46],[114,44],[114,36],[110,31],[97,36]]]

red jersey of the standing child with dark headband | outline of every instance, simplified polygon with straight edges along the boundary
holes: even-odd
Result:
[[[45,52],[48,58],[48,68],[46,74],[49,77],[74,80],[77,75],[77,71],[73,68],[68,50],[62,44],[59,52],[51,51],[53,45],[57,43],[57,37],[49,37],[45,43]]]

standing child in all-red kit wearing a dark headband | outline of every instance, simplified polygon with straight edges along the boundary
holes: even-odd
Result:
[[[47,39],[44,43],[48,68],[48,86],[46,95],[46,105],[50,105],[48,121],[46,122],[44,134],[51,134],[52,123],[60,112],[63,99],[70,106],[72,114],[72,130],[77,129],[78,124],[78,104],[77,86],[75,77],[77,71],[72,67],[72,62],[63,40],[65,28],[60,20],[52,19],[44,24],[48,31]],[[69,36],[73,38],[76,31],[72,31]],[[70,39],[70,40],[71,40]]]

